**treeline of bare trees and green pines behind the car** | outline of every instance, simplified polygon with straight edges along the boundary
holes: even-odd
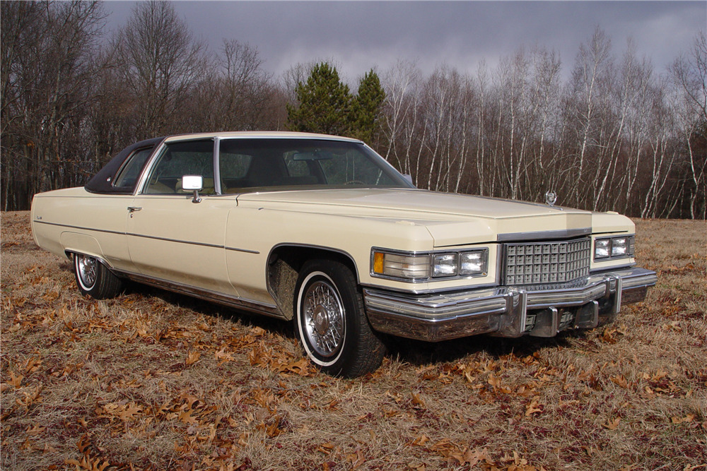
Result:
[[[363,138],[417,186],[618,210],[707,215],[707,44],[666,71],[597,28],[563,76],[521,47],[473,74],[400,61],[356,93],[332,64],[275,77],[257,49],[210,50],[172,4],[136,5],[105,33],[100,2],[3,1],[1,207],[83,185],[143,138],[194,131],[304,130]],[[327,102],[327,100],[332,100]]]

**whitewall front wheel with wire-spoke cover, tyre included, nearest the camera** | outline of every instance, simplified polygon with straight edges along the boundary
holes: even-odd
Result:
[[[375,371],[385,345],[368,324],[351,270],[337,261],[310,261],[297,286],[295,329],[312,362],[334,376]]]

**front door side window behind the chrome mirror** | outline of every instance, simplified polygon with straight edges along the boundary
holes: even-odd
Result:
[[[214,141],[169,143],[153,165],[144,193],[181,194],[184,175],[201,175],[204,190],[214,194]]]

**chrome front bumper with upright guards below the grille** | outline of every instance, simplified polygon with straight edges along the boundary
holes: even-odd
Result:
[[[658,277],[645,268],[592,273],[561,285],[491,287],[439,294],[365,288],[371,326],[382,333],[438,342],[491,333],[554,337],[568,328],[613,321],[621,304],[641,302]]]

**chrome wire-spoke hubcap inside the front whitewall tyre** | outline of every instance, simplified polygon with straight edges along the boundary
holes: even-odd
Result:
[[[334,287],[313,282],[304,297],[305,335],[317,354],[332,357],[344,339],[344,308]]]

